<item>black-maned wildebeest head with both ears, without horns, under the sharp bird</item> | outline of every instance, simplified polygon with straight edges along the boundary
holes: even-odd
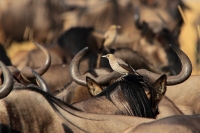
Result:
[[[86,82],[90,93],[97,95],[73,105],[91,113],[155,118],[158,115],[158,103],[166,92],[166,75],[154,84],[141,76],[127,75],[104,90],[89,77],[86,77]],[[87,106],[83,106],[83,103],[87,103]]]

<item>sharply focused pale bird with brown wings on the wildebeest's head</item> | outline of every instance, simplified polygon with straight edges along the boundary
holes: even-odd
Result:
[[[135,70],[130,65],[122,59],[116,58],[113,54],[103,55],[102,57],[107,58],[111,68],[120,74],[128,75],[129,73],[135,73]]]

